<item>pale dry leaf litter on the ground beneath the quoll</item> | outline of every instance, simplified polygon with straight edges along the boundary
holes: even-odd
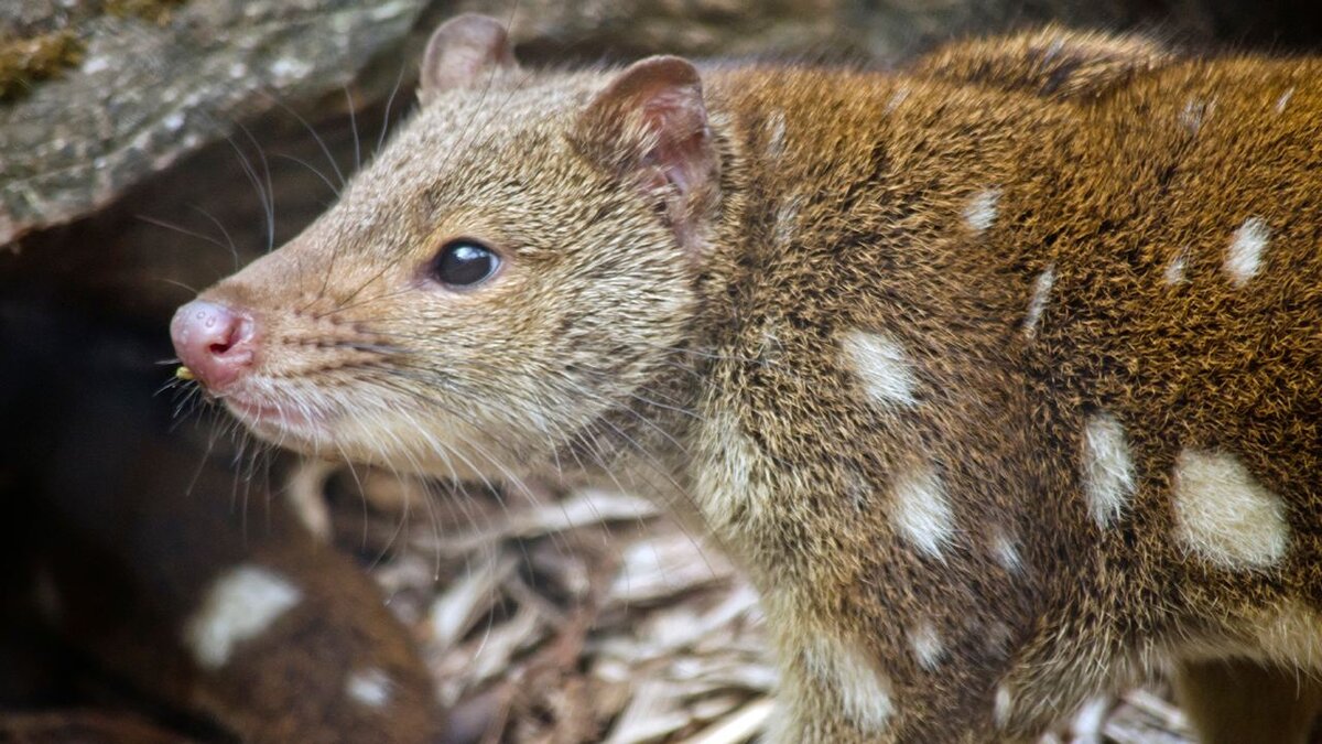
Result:
[[[444,487],[320,463],[296,469],[288,490],[412,630],[448,712],[447,743],[740,744],[773,715],[756,593],[644,499]],[[1165,683],[1097,698],[1042,739],[1192,741]]]

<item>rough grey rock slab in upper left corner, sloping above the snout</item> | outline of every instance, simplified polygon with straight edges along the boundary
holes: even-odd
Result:
[[[0,244],[106,205],[233,122],[338,89],[412,26],[423,0],[193,0],[163,16],[5,4],[0,37],[50,29],[78,66],[0,105]]]

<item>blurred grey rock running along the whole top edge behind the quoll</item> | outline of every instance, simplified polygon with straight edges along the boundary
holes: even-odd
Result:
[[[1059,20],[1157,28],[1204,44],[1301,45],[1306,3],[1224,0],[24,0],[0,5],[0,245],[83,217],[237,122],[321,119],[378,103],[427,32],[460,11],[505,16],[531,61],[795,56],[888,62],[933,41]],[[48,44],[38,45],[38,40]],[[70,41],[71,40],[71,41]],[[40,46],[52,60],[30,60]],[[59,57],[63,54],[63,57]],[[58,62],[63,60],[63,69]],[[38,68],[37,62],[45,66]],[[401,71],[403,70],[403,71]],[[3,79],[4,75],[11,79]],[[405,79],[407,83],[408,81]],[[406,85],[407,86],[407,85]],[[230,184],[215,184],[227,188]]]

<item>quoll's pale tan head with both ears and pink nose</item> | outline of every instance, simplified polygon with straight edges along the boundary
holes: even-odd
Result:
[[[670,363],[718,158],[689,62],[530,74],[483,16],[435,32],[420,99],[336,207],[171,332],[266,440],[498,474]]]

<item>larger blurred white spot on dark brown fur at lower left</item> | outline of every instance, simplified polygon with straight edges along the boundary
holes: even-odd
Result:
[[[241,565],[212,585],[201,609],[184,625],[184,642],[204,669],[221,669],[234,646],[266,631],[299,604],[303,592],[260,565]]]

